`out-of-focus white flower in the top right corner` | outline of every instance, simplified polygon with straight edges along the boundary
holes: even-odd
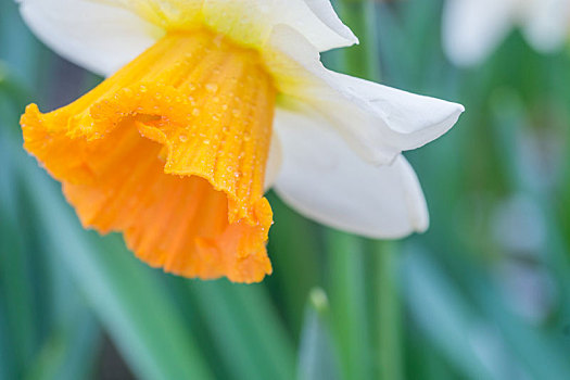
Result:
[[[514,27],[540,52],[560,49],[570,34],[569,0],[447,0],[443,46],[457,65],[481,63]]]

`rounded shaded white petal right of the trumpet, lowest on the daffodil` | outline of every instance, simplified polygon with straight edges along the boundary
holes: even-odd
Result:
[[[276,129],[283,162],[275,189],[303,215],[370,238],[401,238],[428,227],[421,188],[402,155],[372,166],[324,119],[289,111],[278,111]]]

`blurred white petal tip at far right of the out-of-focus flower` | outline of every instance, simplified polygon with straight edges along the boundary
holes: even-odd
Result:
[[[540,0],[528,7],[523,33],[529,42],[542,52],[560,49],[570,31],[570,1]]]

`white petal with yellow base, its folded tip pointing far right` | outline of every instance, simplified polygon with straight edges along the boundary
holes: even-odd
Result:
[[[326,69],[318,53],[289,28],[276,28],[265,55],[279,91],[320,113],[367,161],[387,164],[440,137],[464,107]],[[295,105],[293,105],[295,106]]]

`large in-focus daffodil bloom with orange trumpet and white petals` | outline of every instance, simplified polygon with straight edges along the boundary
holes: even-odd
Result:
[[[83,224],[121,231],[151,266],[259,281],[264,191],[332,227],[396,238],[428,225],[401,155],[463,106],[326,69],[357,41],[328,0],[25,0],[29,27],[107,76],[22,116],[25,148]],[[291,237],[294,239],[294,237]]]

